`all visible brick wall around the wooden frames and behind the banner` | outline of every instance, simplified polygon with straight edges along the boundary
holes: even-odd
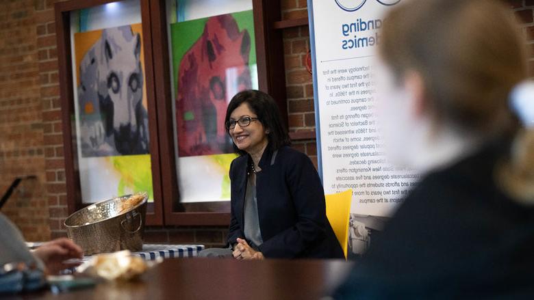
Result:
[[[281,1],[284,19],[307,16],[305,0]],[[2,212],[31,241],[64,235],[67,214],[53,2],[0,0],[0,193],[16,176],[37,176]],[[534,0],[506,3],[521,22],[534,76]],[[312,75],[305,67],[307,26],[284,29],[283,40],[290,131],[314,131]],[[294,148],[316,161],[313,139],[296,141]],[[224,227],[151,227],[147,242],[218,246],[225,234]]]

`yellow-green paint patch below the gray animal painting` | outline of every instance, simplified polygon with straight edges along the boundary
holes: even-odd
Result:
[[[120,174],[117,195],[147,192],[149,202],[154,201],[150,154],[111,156],[109,159]]]

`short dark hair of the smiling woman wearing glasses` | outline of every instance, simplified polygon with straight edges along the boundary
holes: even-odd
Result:
[[[231,113],[236,110],[240,105],[246,103],[253,113],[257,115],[259,122],[268,129],[269,134],[267,139],[269,141],[269,148],[272,151],[278,150],[283,146],[291,146],[291,139],[288,135],[288,131],[283,125],[280,110],[278,109],[275,99],[268,94],[257,90],[245,90],[233,96],[228,105],[225,117],[225,128],[227,133],[230,134],[228,124]],[[236,144],[233,144],[233,150],[240,155],[246,154],[243,150],[240,150]]]

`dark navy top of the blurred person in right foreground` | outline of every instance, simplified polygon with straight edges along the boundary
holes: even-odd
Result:
[[[494,180],[508,148],[489,145],[425,176],[335,298],[534,297],[534,206]]]

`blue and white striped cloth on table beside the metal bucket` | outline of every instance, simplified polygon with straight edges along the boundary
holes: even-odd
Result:
[[[156,258],[188,258],[198,256],[204,249],[204,245],[155,245],[144,244],[142,251],[131,254],[140,256],[145,260],[155,260]]]

